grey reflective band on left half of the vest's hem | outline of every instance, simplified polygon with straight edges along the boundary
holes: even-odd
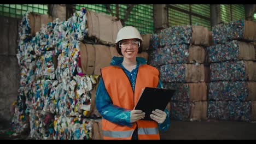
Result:
[[[130,137],[130,136],[132,136],[132,132],[133,132],[133,130],[126,130],[126,131],[106,131],[106,130],[103,130],[103,136],[116,137],[116,138]]]

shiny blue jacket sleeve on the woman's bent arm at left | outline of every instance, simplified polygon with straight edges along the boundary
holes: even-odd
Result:
[[[132,126],[132,123],[130,123],[131,110],[113,105],[102,79],[98,83],[95,104],[96,109],[104,119],[119,125]]]

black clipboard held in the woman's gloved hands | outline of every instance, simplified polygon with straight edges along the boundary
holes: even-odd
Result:
[[[175,89],[143,88],[138,103],[135,105],[134,109],[142,110],[146,113],[146,116],[141,120],[154,121],[149,115],[155,109],[164,111],[174,92]]]

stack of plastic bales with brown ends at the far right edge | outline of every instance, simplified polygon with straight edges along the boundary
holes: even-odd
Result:
[[[256,23],[236,20],[212,29],[214,45],[207,47],[211,68],[208,118],[225,121],[256,120],[256,62],[251,43]]]

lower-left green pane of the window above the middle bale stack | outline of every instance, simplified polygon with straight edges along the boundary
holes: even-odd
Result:
[[[181,11],[168,9],[169,26],[186,26],[189,25],[189,15]]]

